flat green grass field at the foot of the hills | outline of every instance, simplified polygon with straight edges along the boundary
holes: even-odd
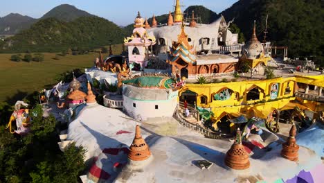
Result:
[[[0,102],[12,102],[43,89],[45,85],[53,85],[58,74],[92,67],[93,60],[98,57],[98,53],[89,53],[66,55],[60,57],[60,60],[54,60],[55,53],[44,55],[43,62],[12,62],[11,54],[0,54]]]

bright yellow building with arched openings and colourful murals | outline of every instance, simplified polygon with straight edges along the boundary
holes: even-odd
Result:
[[[305,92],[300,92],[300,87],[305,85],[307,86]],[[314,86],[313,94],[309,94],[309,86]],[[322,111],[323,87],[323,75],[203,85],[186,84],[179,92],[179,101],[186,100],[188,103],[196,103],[199,107],[210,109],[214,113],[213,127],[217,130],[217,123],[224,116],[231,119],[243,114],[249,118],[257,116],[272,119],[274,114],[279,115],[280,111],[292,110],[294,107],[314,112]],[[314,92],[318,95],[316,96]],[[295,99],[298,99],[298,102]]]

